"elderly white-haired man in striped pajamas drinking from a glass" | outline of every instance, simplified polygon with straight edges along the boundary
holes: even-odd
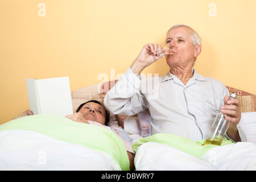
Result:
[[[169,133],[191,140],[206,139],[216,113],[228,115],[228,137],[236,142],[245,141],[239,100],[229,100],[229,92],[220,81],[203,77],[192,69],[201,53],[201,39],[195,30],[185,24],[170,28],[164,49],[159,44],[146,44],[117,84],[106,94],[104,104],[114,114],[133,115],[149,109],[151,135]],[[158,60],[157,52],[166,55],[170,72],[158,79],[152,90],[140,73]],[[146,82],[146,84],[144,84]],[[129,92],[127,92],[127,88]],[[146,90],[146,92],[143,90]],[[153,97],[154,96],[154,97]],[[228,101],[229,100],[229,101]],[[226,102],[230,105],[225,105]]]

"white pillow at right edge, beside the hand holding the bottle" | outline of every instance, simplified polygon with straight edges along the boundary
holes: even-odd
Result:
[[[247,142],[256,144],[256,112],[242,113],[240,127],[245,132]]]

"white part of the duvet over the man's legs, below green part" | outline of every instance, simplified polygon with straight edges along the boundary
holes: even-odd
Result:
[[[166,144],[147,142],[138,147],[134,164],[137,171],[255,171],[256,145],[240,142],[217,146],[197,158]]]

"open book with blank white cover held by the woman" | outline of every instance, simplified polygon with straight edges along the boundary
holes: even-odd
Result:
[[[27,93],[34,114],[73,114],[69,77],[28,79]]]

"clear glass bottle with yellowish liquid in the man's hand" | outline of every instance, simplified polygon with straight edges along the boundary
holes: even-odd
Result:
[[[230,94],[229,100],[237,98],[236,94]],[[226,104],[227,105],[227,104]],[[214,144],[216,146],[220,146],[226,131],[229,128],[229,121],[226,121],[226,115],[218,112],[216,115],[216,118],[213,122],[212,128],[210,129],[210,133],[208,135],[208,138],[204,142],[204,146],[208,144]]]

